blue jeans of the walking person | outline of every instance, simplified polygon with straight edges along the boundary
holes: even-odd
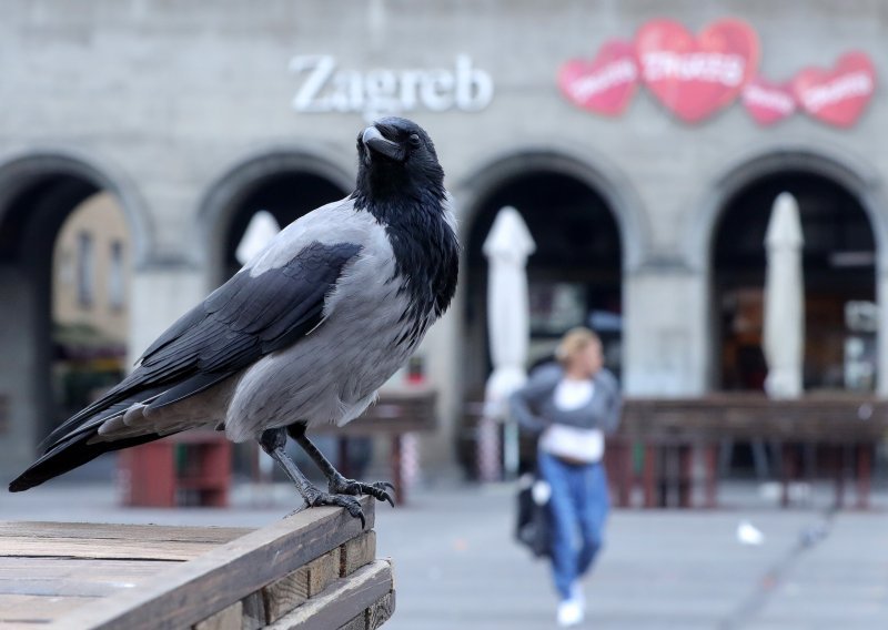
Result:
[[[538,467],[539,475],[552,487],[548,506],[555,589],[562,599],[568,599],[571,585],[588,571],[602,548],[604,522],[610,508],[607,475],[602,464],[575,466],[543,451]]]

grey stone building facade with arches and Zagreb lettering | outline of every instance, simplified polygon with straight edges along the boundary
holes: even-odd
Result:
[[[452,456],[488,370],[480,252],[503,205],[537,242],[535,353],[598,317],[628,394],[696,396],[756,386],[761,237],[788,190],[826,323],[809,326],[806,379],[845,386],[837,370],[857,335],[875,372],[854,386],[888,393],[884,314],[869,317],[875,332],[847,315],[872,314],[888,288],[888,27],[876,0],[12,0],[3,12],[3,472],[47,429],[48,252],[72,207],[104,190],[124,211],[138,356],[236,267],[253,212],[283,224],[346,194],[356,134],[389,111],[435,140],[465,246],[456,303],[422,350],[442,392],[432,458]],[[739,39],[726,18],[743,20]],[[635,65],[602,73],[625,49]],[[688,50],[702,57],[669,65]],[[841,61],[854,51],[870,65]],[[709,71],[726,73],[720,91],[690,84]],[[768,119],[790,82],[797,111]],[[604,94],[614,85],[625,89]],[[801,102],[805,89],[819,91]]]

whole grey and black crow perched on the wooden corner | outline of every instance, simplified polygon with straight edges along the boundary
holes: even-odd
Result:
[[[305,428],[347,423],[404,364],[453,298],[458,243],[444,172],[415,123],[389,118],[357,139],[354,192],[285,227],[181,317],[138,367],[57,428],[14,479],[26,490],[102,453],[194,427],[259,439],[309,505],[391,497],[344,479]],[[286,434],[321,466],[321,492],[283,455]]]

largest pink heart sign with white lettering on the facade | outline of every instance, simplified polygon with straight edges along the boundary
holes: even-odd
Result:
[[[724,19],[698,37],[672,20],[652,20],[635,38],[642,80],[669,111],[699,122],[728,105],[755,75],[758,38],[741,20]]]

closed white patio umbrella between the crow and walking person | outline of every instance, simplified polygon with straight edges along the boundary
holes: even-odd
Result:
[[[484,242],[487,257],[487,333],[493,374],[484,394],[484,418],[478,436],[480,472],[484,480],[498,477],[497,424],[507,416],[507,398],[524,385],[527,375],[529,308],[527,256],[536,250],[531,232],[517,210],[503,207]],[[506,425],[504,465],[517,472],[517,428]]]

